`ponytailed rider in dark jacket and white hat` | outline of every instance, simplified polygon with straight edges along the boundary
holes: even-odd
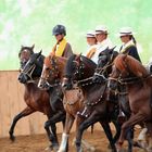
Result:
[[[128,55],[131,55],[132,58],[137,59],[141,62],[140,56],[138,54],[137,46],[136,46],[136,39],[134,37],[134,33],[130,27],[123,27],[119,30],[119,38],[123,42],[123,46],[119,49],[121,53],[127,53]]]

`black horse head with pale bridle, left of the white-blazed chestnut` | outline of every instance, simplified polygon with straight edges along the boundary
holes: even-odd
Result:
[[[21,74],[18,75],[20,83],[26,84],[29,80],[40,77],[43,58],[45,56],[41,55],[41,51],[39,53],[33,53],[29,56],[28,61],[21,69]]]

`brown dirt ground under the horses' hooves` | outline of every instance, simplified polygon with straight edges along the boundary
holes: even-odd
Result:
[[[72,140],[75,134],[71,134],[69,138],[69,152],[75,152],[75,147],[72,145]],[[94,130],[91,135],[90,131],[86,131],[84,138],[96,148],[96,152],[110,152],[107,150],[107,139],[104,132]],[[61,141],[61,134],[59,135]],[[11,142],[9,138],[0,139],[0,152],[48,152],[45,150],[49,142],[46,135],[33,135],[33,136],[17,136],[15,142]],[[138,148],[134,149],[134,152],[139,152]],[[87,152],[87,151],[85,151]]]

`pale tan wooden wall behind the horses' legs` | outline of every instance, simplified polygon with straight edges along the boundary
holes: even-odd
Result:
[[[18,114],[26,104],[23,100],[24,85],[17,81],[17,71],[0,72],[0,137],[8,137],[13,117]],[[14,135],[43,134],[43,124],[47,116],[36,112],[20,119],[16,124]],[[94,129],[101,129],[96,125]],[[61,123],[58,124],[58,132],[62,132]],[[73,127],[72,131],[75,130]]]

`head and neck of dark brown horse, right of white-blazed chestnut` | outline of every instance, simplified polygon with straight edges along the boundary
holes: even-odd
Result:
[[[75,83],[89,78],[93,75],[96,63],[90,59],[79,54],[73,54],[66,63],[62,86],[72,89]]]

